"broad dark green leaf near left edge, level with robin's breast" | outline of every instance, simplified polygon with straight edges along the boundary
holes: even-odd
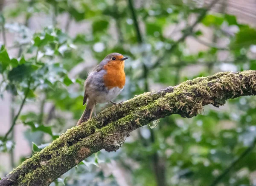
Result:
[[[22,82],[24,79],[31,75],[31,67],[28,65],[18,65],[16,68],[13,68],[9,74],[8,79],[12,82]]]

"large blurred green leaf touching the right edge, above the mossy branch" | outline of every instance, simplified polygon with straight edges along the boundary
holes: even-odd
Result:
[[[231,42],[230,48],[242,48],[256,45],[256,30],[253,28],[243,27],[236,34],[236,39]]]

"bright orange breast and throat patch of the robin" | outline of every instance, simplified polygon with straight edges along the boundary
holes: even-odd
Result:
[[[112,63],[104,66],[107,73],[104,75],[103,79],[108,90],[113,87],[122,89],[125,86],[124,62],[120,63]]]

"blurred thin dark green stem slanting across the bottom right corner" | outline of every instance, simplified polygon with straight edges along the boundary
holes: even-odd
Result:
[[[256,145],[256,139],[254,139],[254,141],[252,142],[252,144],[239,156],[239,158],[235,159],[231,164],[230,166],[227,167],[227,169],[224,170],[224,172],[219,175],[211,184],[211,186],[215,186],[217,185],[222,178],[224,178],[229,172],[231,169],[233,169],[236,164],[241,161],[247,154],[249,154],[253,148],[255,147]]]

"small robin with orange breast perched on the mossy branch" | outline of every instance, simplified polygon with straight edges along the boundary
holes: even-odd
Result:
[[[86,109],[76,125],[87,121],[92,116],[93,107],[97,103],[111,102],[121,93],[125,86],[125,59],[119,53],[106,56],[89,74],[84,82],[84,101]],[[96,116],[96,110],[94,110]],[[97,117],[97,116],[96,116]]]

